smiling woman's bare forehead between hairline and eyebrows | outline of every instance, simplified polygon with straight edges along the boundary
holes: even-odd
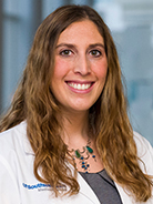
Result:
[[[61,32],[58,43],[63,41],[73,43],[75,41],[91,43],[103,42],[103,37],[99,32],[95,23],[91,20],[83,20],[71,23],[63,32]]]

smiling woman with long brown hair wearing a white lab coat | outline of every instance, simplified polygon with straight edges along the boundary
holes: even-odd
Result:
[[[133,133],[115,45],[86,6],[39,27],[0,124],[0,203],[153,203],[153,150]]]

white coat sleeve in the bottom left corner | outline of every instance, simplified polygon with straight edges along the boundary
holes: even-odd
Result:
[[[0,204],[21,204],[16,176],[8,161],[0,155]]]

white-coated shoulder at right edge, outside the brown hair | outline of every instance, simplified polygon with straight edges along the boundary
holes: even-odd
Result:
[[[153,147],[150,142],[137,132],[134,132],[140,165],[147,174],[153,175]]]

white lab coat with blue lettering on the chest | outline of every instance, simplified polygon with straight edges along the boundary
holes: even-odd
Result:
[[[135,133],[137,154],[153,175],[153,149]],[[96,195],[79,174],[80,192],[73,196],[53,197],[51,187],[33,175],[34,154],[27,139],[26,122],[0,133],[0,204],[100,204]],[[142,170],[144,166],[140,163]],[[143,204],[133,201],[122,186],[115,183],[123,204]],[[64,190],[63,190],[64,191]],[[150,198],[145,204],[153,204]]]

